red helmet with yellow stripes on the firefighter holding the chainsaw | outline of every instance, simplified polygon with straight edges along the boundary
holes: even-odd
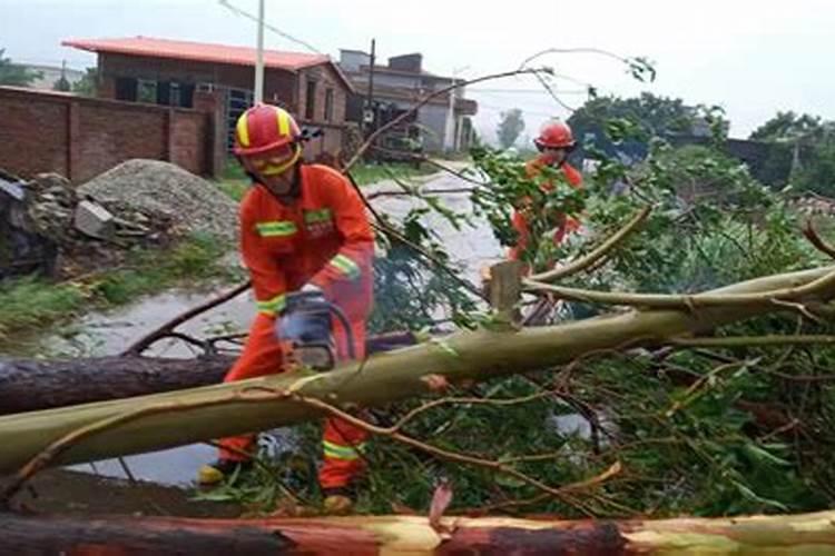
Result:
[[[252,156],[296,141],[302,135],[293,117],[277,106],[257,105],[240,115],[235,126],[238,156]]]

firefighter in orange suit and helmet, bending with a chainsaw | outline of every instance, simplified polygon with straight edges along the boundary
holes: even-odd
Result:
[[[225,381],[285,370],[283,344],[276,336],[285,296],[317,291],[336,305],[351,328],[334,319],[337,358],[345,359],[348,338],[354,356],[364,357],[365,320],[373,302],[374,237],[364,205],[337,171],[302,163],[301,130],[285,110],[258,105],[235,128],[235,153],[253,177],[240,206],[240,252],[249,270],[258,315],[240,358]],[[363,468],[366,433],[327,419],[320,484],[326,507],[350,508],[352,479]],[[238,466],[250,465],[255,435],[225,438],[219,458],[204,466],[200,484],[223,480]]]

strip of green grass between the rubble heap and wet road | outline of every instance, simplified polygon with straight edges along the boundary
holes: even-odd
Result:
[[[230,280],[236,271],[219,264],[226,251],[227,246],[215,237],[195,235],[165,250],[131,252],[122,266],[84,280],[60,284],[35,278],[9,280],[0,291],[0,346],[82,310],[122,305],[186,280],[189,285],[216,278]]]

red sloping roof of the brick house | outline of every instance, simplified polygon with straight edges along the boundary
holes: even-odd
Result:
[[[230,47],[207,42],[154,39],[134,37],[126,39],[70,39],[61,42],[65,47],[78,48],[90,52],[110,52],[118,54],[146,56],[153,58],[173,58],[176,60],[195,60],[235,66],[254,66],[255,49],[249,47]],[[331,63],[325,54],[303,52],[279,52],[264,50],[264,66],[296,71],[311,66]]]

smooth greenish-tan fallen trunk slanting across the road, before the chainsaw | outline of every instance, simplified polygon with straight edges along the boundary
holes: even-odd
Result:
[[[835,296],[832,272],[822,268],[758,278],[711,291],[711,296],[763,294],[807,286],[824,287],[806,300]],[[815,282],[818,284],[818,282]],[[0,473],[11,473],[70,433],[73,437],[48,458],[50,465],[91,461],[163,449],[219,436],[310,420],[323,409],[299,399],[338,407],[380,406],[430,391],[431,375],[450,381],[484,380],[562,365],[601,350],[664,345],[668,338],[775,310],[767,295],[750,305],[710,305],[691,310],[629,311],[617,316],[517,330],[510,326],[460,332],[444,340],[371,357],[326,374],[285,374],[240,383],[0,418]],[[265,391],[273,393],[265,395]],[[256,395],[257,394],[257,395]],[[232,418],[234,416],[234,418]],[[91,427],[91,428],[90,428]],[[65,449],[67,448],[67,449]]]

